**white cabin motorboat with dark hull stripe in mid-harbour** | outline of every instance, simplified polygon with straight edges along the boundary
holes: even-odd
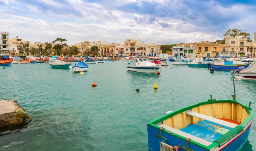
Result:
[[[127,66],[128,71],[134,71],[138,73],[157,73],[159,69],[161,69],[160,65],[148,62],[145,58],[135,58],[133,63]]]

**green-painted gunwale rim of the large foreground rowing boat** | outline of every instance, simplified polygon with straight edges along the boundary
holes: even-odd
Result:
[[[246,105],[244,105],[244,104],[242,104],[242,103],[240,103],[240,102],[238,102],[236,100],[209,100],[209,101],[200,102],[200,103],[197,103],[197,104],[194,104],[194,105],[189,105],[189,106],[183,107],[181,109],[175,110],[175,111],[173,111],[171,113],[168,113],[166,115],[160,116],[159,118],[154,119],[154,120],[148,122],[148,125],[150,125],[150,126],[160,130],[160,127],[157,126],[157,124],[163,122],[164,120],[169,119],[170,117],[173,117],[173,116],[175,116],[175,115],[177,115],[179,113],[185,112],[186,110],[190,110],[190,109],[192,109],[194,107],[198,107],[198,106],[201,106],[201,105],[207,105],[207,104],[214,104],[214,103],[236,103],[236,104],[241,105],[241,107],[243,107],[246,110],[246,112],[249,113],[249,116],[246,119],[244,119],[244,122],[242,122],[240,125],[238,125],[238,126],[241,126],[242,128],[245,128],[250,123],[250,121],[253,119],[254,113],[251,110],[251,108],[247,107]],[[180,136],[179,134],[176,134],[176,133],[174,133],[172,131],[168,131],[166,129],[163,129],[163,132],[165,132],[167,134],[170,134],[172,136],[175,136],[177,138],[183,139],[184,141],[186,141],[186,139],[187,139],[184,136]],[[238,132],[236,130],[234,130],[234,128],[233,128],[232,130],[230,130],[230,133],[236,134]],[[240,133],[241,133],[241,131],[239,131],[239,133],[237,135],[239,135]],[[225,136],[227,136],[227,135],[224,134],[220,138],[223,138]],[[230,138],[229,140],[231,140],[231,139],[232,138]],[[194,145],[200,146],[201,148],[207,149],[208,151],[211,151],[212,149],[220,146],[220,143],[216,142],[216,141],[212,142],[212,144],[209,145],[209,146],[203,145],[203,144],[201,144],[199,142],[195,142],[193,140],[190,140],[190,142],[192,144],[194,144]]]

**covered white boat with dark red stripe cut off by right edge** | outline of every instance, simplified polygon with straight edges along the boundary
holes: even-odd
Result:
[[[236,78],[246,79],[246,80],[256,80],[256,61],[254,61],[249,67],[244,70],[237,70],[238,73],[235,74]]]

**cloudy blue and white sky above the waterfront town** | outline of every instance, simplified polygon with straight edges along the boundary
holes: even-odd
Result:
[[[0,0],[0,31],[24,41],[67,44],[126,39],[156,44],[223,39],[256,32],[256,0]]]

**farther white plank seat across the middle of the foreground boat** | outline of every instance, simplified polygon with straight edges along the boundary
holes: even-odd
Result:
[[[224,125],[224,126],[227,126],[229,128],[235,128],[237,126],[237,124],[227,122],[227,121],[224,121],[224,120],[221,120],[221,119],[217,119],[217,118],[214,118],[214,117],[211,117],[211,116],[207,116],[207,115],[204,115],[204,114],[200,114],[200,113],[194,112],[192,110],[186,111],[186,114],[190,115],[190,116],[198,117],[200,119],[205,119],[207,121],[214,122],[214,123],[217,123],[217,124],[220,124],[220,125]]]

